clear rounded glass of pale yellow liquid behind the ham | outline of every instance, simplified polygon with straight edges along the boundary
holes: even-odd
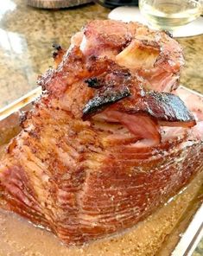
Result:
[[[201,15],[203,0],[139,0],[139,8],[155,29],[174,30]]]

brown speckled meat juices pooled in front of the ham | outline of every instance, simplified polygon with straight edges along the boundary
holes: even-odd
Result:
[[[159,255],[159,251],[164,252],[160,255],[169,255],[199,205],[202,181],[201,173],[173,200],[123,234],[79,247],[64,246],[54,234],[35,227],[16,214],[0,210],[0,255],[153,256]],[[183,217],[185,221],[182,222]],[[179,227],[180,221],[182,227]]]

